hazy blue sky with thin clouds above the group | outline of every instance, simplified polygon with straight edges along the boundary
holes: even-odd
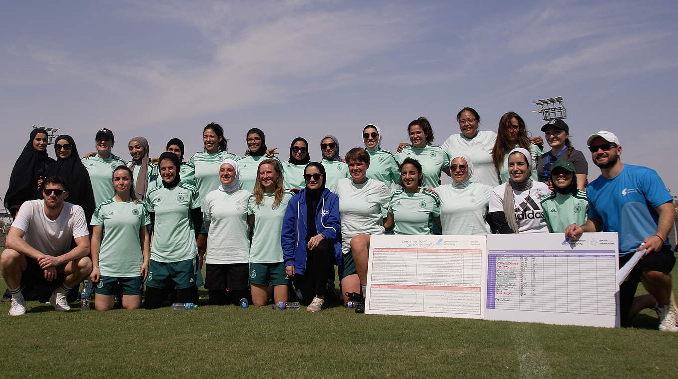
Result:
[[[622,161],[656,169],[678,195],[677,13],[669,1],[7,3],[0,193],[31,124],[60,127],[81,152],[108,127],[128,159],[137,135],[154,155],[182,138],[190,155],[217,121],[235,153],[260,127],[281,159],[296,136],[319,159],[321,136],[345,153],[367,123],[393,150],[419,116],[441,144],[463,106],[482,129],[513,110],[542,135],[530,102],[563,96],[589,161],[586,136],[609,129]]]

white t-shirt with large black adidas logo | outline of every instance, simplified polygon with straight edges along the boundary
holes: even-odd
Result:
[[[492,188],[492,193],[490,194],[490,213],[504,212],[505,188],[505,182]],[[542,196],[549,195],[550,193],[549,186],[536,180],[532,181],[532,188],[528,191],[513,190],[515,218],[520,233],[549,233],[541,200]]]

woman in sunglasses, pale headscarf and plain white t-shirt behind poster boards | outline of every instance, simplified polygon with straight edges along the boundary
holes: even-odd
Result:
[[[443,184],[434,190],[440,198],[443,235],[490,234],[485,217],[492,187],[471,181],[473,165],[468,155],[457,154],[450,161],[452,184]]]

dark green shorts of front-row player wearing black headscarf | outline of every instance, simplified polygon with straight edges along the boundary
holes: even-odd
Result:
[[[199,287],[202,285],[201,278],[197,262],[193,258],[169,263],[151,260],[151,264],[148,264],[146,287],[164,288],[169,282],[174,281],[176,289],[183,290],[194,285]]]

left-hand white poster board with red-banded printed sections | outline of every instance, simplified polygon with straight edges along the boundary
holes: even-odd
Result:
[[[485,237],[373,235],[365,313],[483,317]]]

